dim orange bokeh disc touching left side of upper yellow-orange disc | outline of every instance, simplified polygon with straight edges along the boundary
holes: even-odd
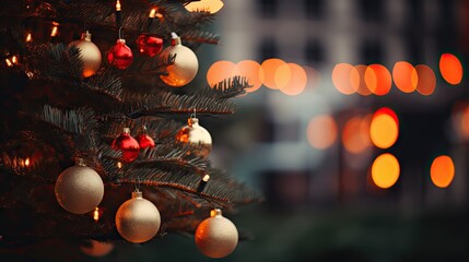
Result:
[[[343,147],[352,154],[363,153],[372,145],[370,140],[371,117],[353,117],[342,130]]]

